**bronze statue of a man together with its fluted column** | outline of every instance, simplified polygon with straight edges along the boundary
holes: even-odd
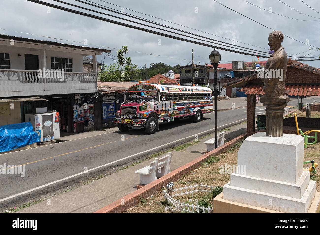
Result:
[[[268,58],[266,70],[268,76],[262,76],[265,95],[260,102],[266,107],[266,135],[278,137],[283,135],[283,112],[289,102],[284,95],[284,82],[287,72],[287,53],[281,45],[283,34],[274,31],[269,34],[268,45],[274,53]]]

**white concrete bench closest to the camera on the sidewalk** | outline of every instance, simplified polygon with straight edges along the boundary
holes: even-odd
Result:
[[[172,153],[168,155],[155,158],[154,161],[150,163],[149,166],[146,166],[135,173],[140,175],[140,184],[147,185],[158,178],[170,173],[170,163],[171,163]]]

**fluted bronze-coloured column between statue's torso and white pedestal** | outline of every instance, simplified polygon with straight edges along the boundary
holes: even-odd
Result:
[[[283,112],[290,98],[281,95],[275,100],[270,100],[263,95],[260,102],[266,107],[266,135],[272,137],[282,136],[283,133]]]

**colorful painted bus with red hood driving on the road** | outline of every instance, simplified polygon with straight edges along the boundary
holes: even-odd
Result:
[[[125,102],[116,113],[120,131],[144,128],[153,134],[160,121],[190,117],[200,122],[204,113],[212,112],[212,90],[208,87],[188,87],[150,84],[142,81],[125,92]],[[127,97],[129,101],[127,101]]]

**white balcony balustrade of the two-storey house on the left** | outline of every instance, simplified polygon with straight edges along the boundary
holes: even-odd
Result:
[[[0,69],[0,97],[95,92],[95,73]]]

